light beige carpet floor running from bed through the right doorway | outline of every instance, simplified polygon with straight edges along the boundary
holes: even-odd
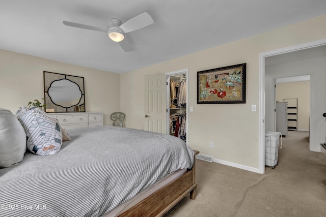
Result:
[[[308,136],[288,132],[265,174],[197,160],[197,198],[164,216],[326,216],[326,158],[309,151]]]

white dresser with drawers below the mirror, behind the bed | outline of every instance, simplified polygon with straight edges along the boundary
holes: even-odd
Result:
[[[48,114],[57,118],[61,127],[66,130],[103,126],[103,113],[100,112],[62,112]]]

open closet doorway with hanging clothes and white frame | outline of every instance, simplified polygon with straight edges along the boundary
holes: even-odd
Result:
[[[167,133],[188,143],[188,69],[167,75]]]

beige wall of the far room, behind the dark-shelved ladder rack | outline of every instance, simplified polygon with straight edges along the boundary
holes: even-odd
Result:
[[[277,101],[283,102],[283,99],[292,98],[297,98],[297,129],[301,131],[309,131],[310,81],[276,84]],[[294,105],[289,103],[288,106]],[[288,112],[291,111],[293,110],[289,110]],[[288,126],[294,127],[294,122],[290,121]]]

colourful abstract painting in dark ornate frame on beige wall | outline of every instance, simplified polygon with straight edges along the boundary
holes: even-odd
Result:
[[[197,72],[197,104],[246,103],[246,63]]]

